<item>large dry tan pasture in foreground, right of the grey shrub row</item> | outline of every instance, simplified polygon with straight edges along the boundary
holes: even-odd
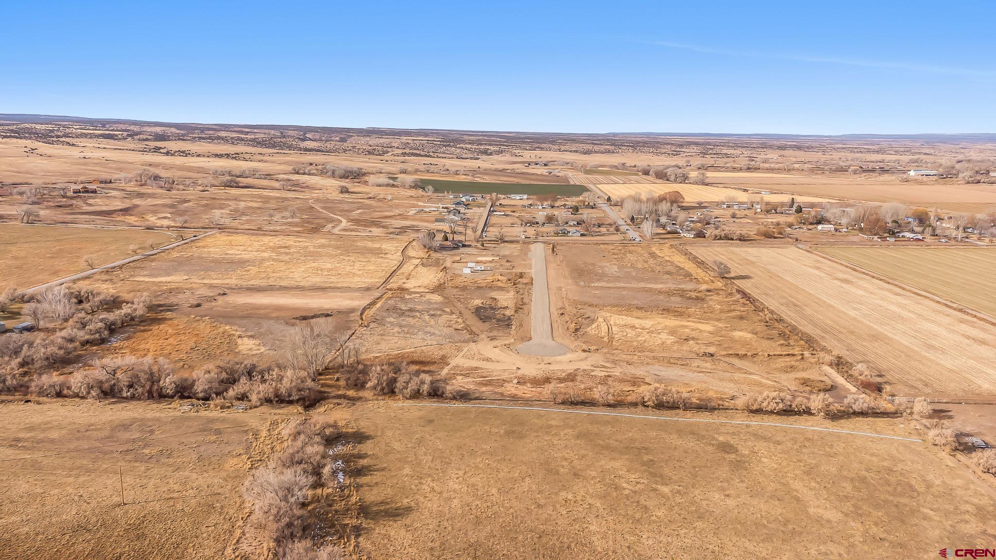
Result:
[[[347,413],[363,433],[371,558],[927,557],[996,539],[992,490],[926,442],[541,411]],[[917,437],[895,420],[774,421]]]

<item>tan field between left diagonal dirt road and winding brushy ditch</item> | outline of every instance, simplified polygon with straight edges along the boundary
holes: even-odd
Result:
[[[124,295],[149,293],[175,314],[209,317],[275,339],[296,317],[355,321],[401,264],[409,241],[343,239],[217,233],[80,283]]]

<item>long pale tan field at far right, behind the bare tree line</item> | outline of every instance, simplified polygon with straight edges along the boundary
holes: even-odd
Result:
[[[904,202],[949,211],[981,212],[996,208],[996,185],[937,180],[899,182],[890,178],[803,175],[756,171],[709,171],[709,182],[752,190],[779,190],[808,196],[832,196],[869,202]],[[767,197],[766,195],[765,197]]]

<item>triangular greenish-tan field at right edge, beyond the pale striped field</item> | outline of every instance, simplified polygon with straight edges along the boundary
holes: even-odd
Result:
[[[996,317],[996,249],[816,247],[886,278]]]

